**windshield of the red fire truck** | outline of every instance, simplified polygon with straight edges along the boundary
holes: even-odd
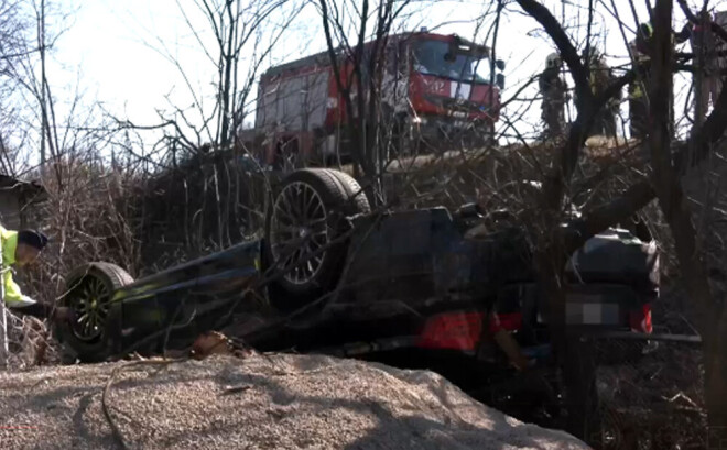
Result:
[[[490,83],[487,55],[477,57],[448,53],[449,44],[445,41],[426,40],[414,43],[412,52],[414,70],[463,81]]]

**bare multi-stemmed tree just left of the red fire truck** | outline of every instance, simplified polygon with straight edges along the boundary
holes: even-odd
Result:
[[[180,168],[180,161],[185,158],[197,158],[200,163],[188,168],[204,172],[200,172],[204,189],[198,196],[203,202],[199,209],[185,212],[196,229],[192,237],[199,249],[209,238],[203,232],[205,223],[215,223],[213,248],[239,239],[240,227],[247,232],[254,228],[251,224],[257,221],[251,211],[254,207],[242,198],[250,183],[241,177],[238,162],[243,155],[253,161],[256,155],[238,136],[251,109],[250,92],[257,86],[259,70],[290,31],[303,6],[304,2],[292,0],[198,0],[192,6],[177,2],[194,46],[208,64],[207,70],[186,66],[164,36],[155,36],[156,42],[149,44],[177,69],[186,90],[178,98],[191,98],[192,106],[169,99],[169,108],[159,111],[158,124],[126,119],[119,123],[139,133],[161,132],[152,150],[159,169]],[[208,85],[198,86],[195,73],[209,74],[211,89]],[[247,223],[238,227],[236,223],[240,221]]]

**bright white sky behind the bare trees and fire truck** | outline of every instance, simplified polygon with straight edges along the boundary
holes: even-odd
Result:
[[[573,24],[578,20],[585,23],[587,1],[566,1],[571,12],[565,23]],[[618,65],[626,63],[626,51],[621,33],[607,11],[612,9],[612,2],[620,7],[628,4],[623,0],[597,0],[599,12],[595,29],[607,35],[606,52],[611,64]],[[545,4],[560,17],[561,0],[546,0]],[[210,28],[197,13],[194,0],[61,0],[58,6],[74,12],[67,30],[56,43],[54,64],[48,72],[56,96],[63,97],[63,94],[80,87],[85,101],[101,102],[105,110],[137,124],[153,124],[159,122],[158,110],[193,102],[182,70],[197,95],[207,99],[214,95],[211,86],[216,68],[195,41],[182,13],[186,11],[195,30],[209,36]],[[476,34],[474,19],[487,9],[485,1],[437,1],[414,13],[406,28],[427,26],[440,33],[457,33],[471,39]],[[554,51],[552,43],[539,32],[540,26],[534,20],[522,14],[517,6],[507,9],[497,46],[498,58],[508,64],[504,70],[506,100],[523,81],[543,69],[545,57]],[[643,6],[638,13],[645,18]],[[580,17],[576,18],[576,14]],[[681,28],[681,12],[675,11],[675,28]],[[486,33],[487,26],[476,39],[481,41]],[[314,4],[308,2],[285,39],[275,46],[268,64],[323,50],[325,40],[321,19]],[[178,62],[178,67],[170,56]],[[533,85],[523,97],[532,98],[534,89]],[[536,125],[540,119],[538,107],[513,102],[506,112],[512,116],[522,111],[525,113],[523,127],[528,127],[525,122]]]

